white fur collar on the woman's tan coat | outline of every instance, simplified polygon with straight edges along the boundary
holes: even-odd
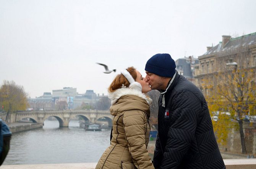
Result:
[[[141,91],[136,89],[120,88],[120,89],[117,89],[115,92],[109,92],[111,105],[115,104],[117,100],[124,95],[135,95],[145,99],[149,105],[152,104],[152,99],[147,97],[144,93],[141,93]]]

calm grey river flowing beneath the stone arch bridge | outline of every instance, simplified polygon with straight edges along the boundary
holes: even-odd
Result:
[[[75,120],[69,126],[46,120],[41,129],[13,134],[3,165],[97,162],[110,145],[110,130],[85,131]]]

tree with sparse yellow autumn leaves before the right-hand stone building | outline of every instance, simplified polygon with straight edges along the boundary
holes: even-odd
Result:
[[[219,71],[204,79],[202,87],[207,90],[206,100],[211,112],[229,112],[232,119],[238,121],[242,153],[246,153],[243,119],[245,115],[255,114],[256,84],[255,66],[250,65],[251,46],[246,37],[234,39],[233,48],[220,52],[217,56]],[[232,42],[231,42],[232,43]],[[225,63],[225,64],[223,64]],[[222,66],[221,66],[222,65]],[[214,122],[219,142],[226,143],[230,117],[219,114],[219,121]]]

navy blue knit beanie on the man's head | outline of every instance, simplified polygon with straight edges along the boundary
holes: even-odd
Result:
[[[159,53],[147,61],[145,71],[162,77],[173,77],[176,72],[175,68],[175,61],[168,53]]]

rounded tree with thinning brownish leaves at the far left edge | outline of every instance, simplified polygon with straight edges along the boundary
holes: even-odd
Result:
[[[23,86],[16,85],[14,81],[3,81],[0,88],[0,103],[6,111],[6,121],[10,121],[11,114],[17,110],[25,110],[28,105],[27,93]]]

